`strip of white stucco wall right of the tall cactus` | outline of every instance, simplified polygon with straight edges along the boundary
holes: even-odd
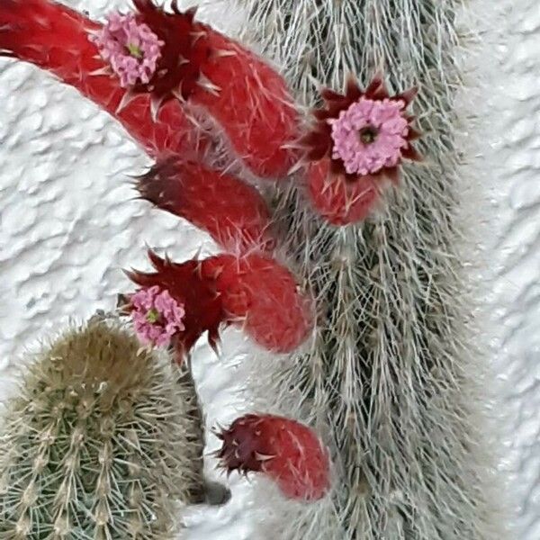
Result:
[[[540,2],[505,0],[492,29],[486,149],[496,367],[506,383],[504,469],[516,538],[540,538]],[[490,39],[491,39],[490,38]]]

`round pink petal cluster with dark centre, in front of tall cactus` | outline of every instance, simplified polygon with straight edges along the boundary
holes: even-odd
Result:
[[[407,146],[409,121],[406,103],[361,97],[338,118],[332,127],[332,158],[341,159],[350,175],[371,175],[383,167],[397,166],[401,148]]]

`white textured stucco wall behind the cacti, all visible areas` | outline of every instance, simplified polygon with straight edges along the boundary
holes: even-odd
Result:
[[[474,0],[473,0],[474,1]],[[127,0],[65,0],[99,17]],[[509,474],[518,540],[540,538],[540,4],[505,0],[483,53],[490,65],[483,148],[484,238],[495,329],[493,355],[506,415],[501,470]],[[205,14],[220,28],[233,21]],[[491,77],[491,78],[490,78]],[[27,347],[68,320],[111,308],[130,290],[120,269],[146,267],[145,246],[172,257],[215,249],[184,221],[133,200],[130,175],[149,165],[125,132],[76,91],[37,69],[0,61],[0,394],[13,388]],[[479,213],[480,215],[480,213]],[[209,424],[246,410],[236,361],[249,345],[228,330],[216,358],[203,343],[194,365]],[[209,436],[209,451],[217,441]],[[209,473],[212,472],[209,458]],[[250,537],[249,486],[232,476],[231,502],[193,509],[190,540]]]

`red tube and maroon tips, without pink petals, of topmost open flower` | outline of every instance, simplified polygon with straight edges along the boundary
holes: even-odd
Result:
[[[173,2],[166,14],[152,0],[135,0],[138,18],[163,41],[156,75],[134,92],[157,103],[187,100],[219,124],[236,156],[256,175],[277,179],[298,160],[291,148],[299,116],[284,79],[264,61]]]

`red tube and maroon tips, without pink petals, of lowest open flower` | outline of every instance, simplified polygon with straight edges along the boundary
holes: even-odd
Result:
[[[298,347],[311,329],[309,302],[293,276],[269,257],[219,255],[180,264],[152,251],[148,257],[156,272],[127,275],[141,287],[168,291],[184,306],[184,330],[175,336],[182,353],[205,331],[215,344],[221,323],[241,324],[259,345],[276,352]]]

